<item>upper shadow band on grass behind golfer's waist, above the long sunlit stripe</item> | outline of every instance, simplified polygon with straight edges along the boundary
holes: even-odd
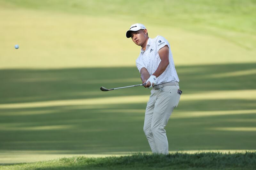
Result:
[[[184,93],[255,89],[256,63],[177,66]],[[100,87],[140,84],[135,67],[0,70],[0,103],[149,94],[143,87],[100,92]]]

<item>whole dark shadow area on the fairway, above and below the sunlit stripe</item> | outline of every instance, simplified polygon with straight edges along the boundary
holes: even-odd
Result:
[[[178,66],[177,71],[180,88],[188,94],[255,89],[255,68],[256,63],[244,63]],[[143,87],[100,91],[100,86],[139,84],[140,75],[134,67],[0,70],[0,77],[2,104],[150,93]],[[146,102],[0,109],[0,150],[87,154],[150,151],[143,132],[145,107]],[[165,127],[169,150],[255,149],[255,109],[255,100],[182,101]],[[251,111],[232,114],[239,110]],[[179,113],[200,111],[209,115],[179,117]],[[211,111],[231,113],[211,115]],[[220,130],[225,128],[231,131]]]

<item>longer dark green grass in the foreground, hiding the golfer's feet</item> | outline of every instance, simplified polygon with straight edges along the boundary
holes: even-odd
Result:
[[[256,153],[173,153],[169,155],[133,154],[131,156],[73,157],[29,164],[0,166],[7,169],[254,169]]]

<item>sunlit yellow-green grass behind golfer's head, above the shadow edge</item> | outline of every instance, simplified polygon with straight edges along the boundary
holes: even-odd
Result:
[[[170,42],[176,65],[256,62],[255,1],[0,4],[0,68],[134,66],[140,48],[125,32],[137,22]]]

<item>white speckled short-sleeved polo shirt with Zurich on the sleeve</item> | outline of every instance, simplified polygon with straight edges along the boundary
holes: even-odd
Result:
[[[161,62],[158,50],[163,48],[165,45],[168,45],[169,47],[169,65],[165,71],[156,79],[158,85],[167,82],[180,81],[174,67],[172,51],[169,42],[164,37],[159,35],[154,39],[148,38],[146,50],[144,51],[141,48],[140,55],[136,60],[136,66],[139,71],[141,68],[145,67],[148,70],[148,73],[152,75]]]

